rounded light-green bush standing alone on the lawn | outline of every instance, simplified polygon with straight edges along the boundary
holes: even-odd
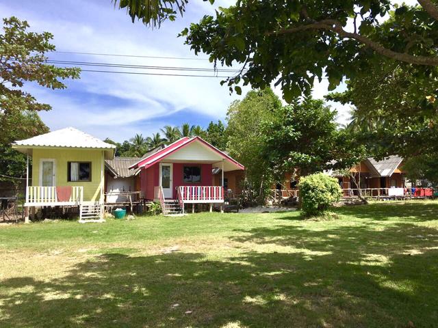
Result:
[[[323,215],[342,197],[337,179],[317,173],[305,176],[298,184],[301,198],[301,212],[306,217]]]

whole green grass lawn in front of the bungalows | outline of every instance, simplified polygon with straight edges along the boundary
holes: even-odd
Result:
[[[335,211],[0,227],[0,327],[438,327],[438,202]]]

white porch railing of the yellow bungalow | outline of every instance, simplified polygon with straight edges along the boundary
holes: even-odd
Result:
[[[27,204],[81,204],[83,202],[83,187],[71,187],[71,195],[68,202],[59,202],[56,195],[56,187],[29,186],[26,191]]]

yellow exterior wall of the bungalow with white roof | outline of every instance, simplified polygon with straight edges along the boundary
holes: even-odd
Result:
[[[83,201],[97,201],[101,196],[101,187],[105,176],[102,173],[102,150],[88,149],[34,149],[32,156],[32,186],[40,185],[40,159],[55,159],[57,186],[82,186]],[[91,162],[91,181],[68,182],[67,162]]]

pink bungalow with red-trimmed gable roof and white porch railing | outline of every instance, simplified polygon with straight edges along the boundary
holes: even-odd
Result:
[[[162,204],[164,214],[183,213],[185,204],[223,204],[223,172],[243,170],[229,155],[200,137],[183,137],[149,154],[129,169],[140,168],[146,200]],[[222,170],[221,186],[214,186],[212,170]]]

